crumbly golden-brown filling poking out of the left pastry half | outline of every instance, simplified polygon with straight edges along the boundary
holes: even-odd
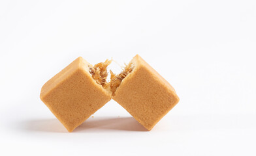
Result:
[[[95,64],[95,66],[89,66],[89,73],[91,73],[91,77],[95,79],[96,83],[103,86],[104,89],[108,87],[108,83],[106,82],[106,77],[108,77],[107,67],[112,62],[112,60],[106,60],[105,62],[101,62]]]

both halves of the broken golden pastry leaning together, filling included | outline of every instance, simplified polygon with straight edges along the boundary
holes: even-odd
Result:
[[[92,66],[82,57],[42,86],[40,99],[71,132],[114,99],[140,124],[151,130],[180,100],[172,86],[136,55],[119,74],[106,60]]]

